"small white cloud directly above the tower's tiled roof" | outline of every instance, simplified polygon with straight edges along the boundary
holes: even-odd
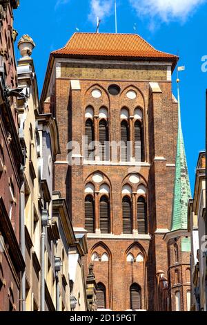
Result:
[[[96,23],[97,16],[99,16],[100,19],[110,16],[113,3],[113,0],[90,0],[90,21]]]

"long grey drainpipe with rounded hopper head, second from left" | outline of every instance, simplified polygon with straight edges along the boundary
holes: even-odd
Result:
[[[45,247],[46,227],[48,225],[48,210],[41,212],[41,311],[45,311]]]

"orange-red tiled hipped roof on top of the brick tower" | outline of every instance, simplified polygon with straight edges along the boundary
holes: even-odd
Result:
[[[65,47],[55,50],[52,54],[169,59],[177,61],[176,55],[156,50],[136,34],[75,32]]]

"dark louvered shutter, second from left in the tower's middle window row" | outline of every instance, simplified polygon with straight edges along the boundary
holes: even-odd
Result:
[[[109,234],[110,233],[110,208],[109,208],[108,198],[106,196],[103,196],[100,200],[99,212],[100,212],[101,234]]]

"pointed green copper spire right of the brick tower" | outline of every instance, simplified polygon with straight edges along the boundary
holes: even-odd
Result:
[[[172,207],[171,231],[187,229],[188,199],[191,198],[188,167],[184,147],[184,137],[181,129],[181,108],[179,98],[179,80],[177,80],[177,100],[178,100],[178,135],[177,135],[177,155],[175,167],[175,187]]]

